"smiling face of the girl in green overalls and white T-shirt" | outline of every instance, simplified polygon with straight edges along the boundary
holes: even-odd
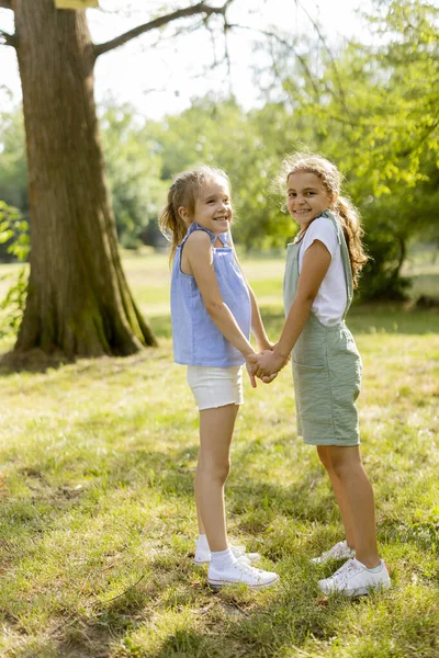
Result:
[[[317,174],[309,171],[290,173],[286,205],[301,228],[306,228],[324,211],[334,207],[336,201],[337,195],[329,194]]]

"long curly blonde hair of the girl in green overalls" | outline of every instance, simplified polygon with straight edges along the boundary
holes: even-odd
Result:
[[[337,201],[334,204],[334,209],[340,219],[340,225],[345,234],[346,243],[349,251],[350,266],[352,270],[353,287],[358,287],[358,279],[362,266],[368,262],[369,258],[363,250],[361,238],[364,234],[361,227],[361,218],[358,208],[352,204],[348,196],[341,196],[342,175],[337,167],[329,162],[326,158],[316,154],[296,152],[286,158],[282,162],[280,180],[283,186],[292,173],[297,171],[306,171],[317,175],[329,196],[336,196]]]

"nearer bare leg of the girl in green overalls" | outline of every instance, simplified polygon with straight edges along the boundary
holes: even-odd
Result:
[[[380,556],[376,546],[375,504],[360,449],[358,445],[329,445],[327,457],[338,480],[338,495],[348,510],[347,520],[351,523],[356,557],[368,568],[376,567]]]

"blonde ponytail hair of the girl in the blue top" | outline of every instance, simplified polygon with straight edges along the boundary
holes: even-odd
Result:
[[[161,232],[171,243],[170,260],[172,260],[177,247],[188,231],[188,224],[180,217],[179,207],[183,206],[188,211],[189,217],[193,217],[196,197],[201,188],[216,179],[223,179],[230,192],[230,181],[226,172],[206,164],[182,171],[175,177],[169,188],[168,203],[158,220]]]

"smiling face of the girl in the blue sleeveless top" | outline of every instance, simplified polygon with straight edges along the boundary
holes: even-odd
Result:
[[[180,206],[179,214],[188,225],[196,222],[214,235],[227,232],[233,216],[227,181],[222,178],[206,181],[196,191],[193,216],[183,206]]]

